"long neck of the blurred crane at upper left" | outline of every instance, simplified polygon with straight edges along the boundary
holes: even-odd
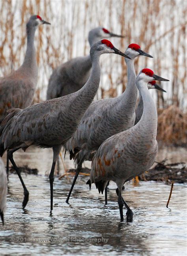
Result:
[[[34,46],[34,35],[36,28],[29,27],[27,25],[27,45],[26,45],[26,54],[24,57],[23,64],[21,69],[24,69],[26,75],[35,77],[37,76],[37,61],[36,61],[36,50]]]

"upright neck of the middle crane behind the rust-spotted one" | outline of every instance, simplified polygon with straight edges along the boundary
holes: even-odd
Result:
[[[127,63],[127,87],[122,95],[117,97],[117,101],[119,102],[116,107],[120,113],[125,115],[132,116],[135,112],[138,90],[135,84],[136,73],[133,59],[125,58],[125,62]],[[125,110],[125,112],[124,112]]]

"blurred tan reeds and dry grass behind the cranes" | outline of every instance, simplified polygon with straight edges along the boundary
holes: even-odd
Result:
[[[153,55],[153,59],[138,57],[135,69],[138,73],[149,67],[170,80],[161,84],[167,93],[151,90],[162,128],[158,136],[169,143],[185,143],[187,1],[0,0],[0,76],[22,64],[26,50],[25,25],[32,14],[51,23],[51,26],[40,26],[36,32],[39,79],[35,102],[45,99],[52,69],[72,57],[89,54],[88,32],[102,26],[125,36],[111,38],[123,52],[130,43],[137,43]],[[124,59],[103,55],[101,70],[97,99],[121,94],[127,84]]]

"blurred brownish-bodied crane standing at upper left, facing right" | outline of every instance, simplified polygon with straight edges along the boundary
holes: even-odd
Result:
[[[50,24],[39,15],[32,15],[26,24],[27,46],[24,61],[16,71],[0,78],[0,123],[12,108],[28,107],[32,104],[37,86],[37,62],[34,35],[41,24]],[[7,158],[7,174],[8,174]]]

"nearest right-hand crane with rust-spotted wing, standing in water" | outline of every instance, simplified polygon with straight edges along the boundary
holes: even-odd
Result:
[[[95,183],[99,193],[103,193],[109,180],[116,182],[121,222],[124,204],[127,208],[127,221],[133,221],[133,212],[122,197],[123,184],[148,170],[158,151],[157,109],[148,90],[148,82],[152,80],[168,81],[155,75],[150,69],[140,71],[136,85],[144,104],[142,118],[129,130],[115,134],[103,142],[95,153],[90,180],[87,181],[90,187]]]

